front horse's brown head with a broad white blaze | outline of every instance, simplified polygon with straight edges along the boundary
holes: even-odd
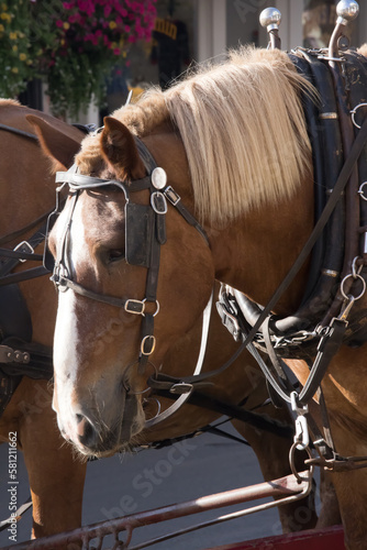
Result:
[[[49,132],[44,133],[48,154],[49,139]],[[182,153],[175,156],[175,139],[171,148],[167,144],[164,150],[159,138],[147,141],[168,182],[179,189],[187,187],[188,169],[184,169]],[[57,152],[53,156],[58,160]],[[137,262],[140,265],[127,263],[126,229],[135,241],[133,246],[145,249],[144,241],[152,240],[145,227],[152,207],[147,189],[130,194],[127,199],[113,185],[121,183],[129,191],[135,180],[146,176],[135,139],[122,122],[107,118],[103,131],[85,140],[76,164],[81,174],[111,185],[71,189],[49,234],[56,265],[73,280],[69,287],[59,285],[53,407],[65,439],[85,454],[103,455],[126,446],[144,428],[147,378],[200,316],[214,272],[208,243],[174,208],[165,215],[167,238],[159,246],[159,270],[153,275],[154,300],[147,288],[152,286],[147,282],[152,258]],[[134,205],[129,224],[126,201]],[[85,292],[78,292],[80,288]],[[109,298],[104,301],[103,297]],[[142,323],[148,317],[149,322],[154,319],[154,333],[146,337],[149,350],[145,352]],[[140,360],[142,351],[148,355],[145,366]]]

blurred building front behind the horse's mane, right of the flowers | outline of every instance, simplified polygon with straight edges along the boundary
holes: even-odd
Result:
[[[359,0],[359,16],[351,25],[351,45],[367,42],[367,1]],[[110,86],[107,109],[92,106],[79,122],[101,121],[126,100],[152,85],[170,86],[196,63],[221,59],[241,44],[266,47],[268,37],[259,24],[260,12],[275,7],[281,12],[282,50],[296,46],[326,47],[336,21],[337,0],[157,0],[157,20],[151,43],[132,45],[123,79]],[[34,106],[37,107],[37,106]],[[43,108],[47,110],[46,101]]]

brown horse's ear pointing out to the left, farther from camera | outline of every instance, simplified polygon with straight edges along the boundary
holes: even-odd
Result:
[[[26,120],[33,125],[44,153],[55,162],[55,168],[68,169],[85,135],[80,132],[78,141],[77,138],[67,135],[59,128],[35,114],[27,114]]]

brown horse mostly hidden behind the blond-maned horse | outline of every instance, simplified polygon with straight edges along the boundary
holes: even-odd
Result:
[[[13,232],[19,233],[22,228],[29,228],[10,241],[8,240],[5,246],[12,250],[19,241],[26,241],[34,232],[30,224],[34,220],[44,218],[44,215],[54,208],[54,169],[66,169],[73,164],[74,155],[79,151],[85,134],[69,124],[20,106],[12,100],[0,101],[0,120],[1,124],[8,127],[0,130],[3,153],[0,162],[3,199],[0,234],[3,237]],[[42,132],[40,127],[42,127]],[[30,134],[33,133],[34,128],[38,132],[40,142],[32,139],[32,135],[30,138],[9,132],[15,129],[15,131],[20,130]],[[56,139],[53,135],[55,130],[57,131]],[[46,150],[46,155],[40,143]],[[16,162],[14,152],[16,152]],[[49,156],[56,154],[58,161],[49,163]],[[43,244],[40,244],[35,252],[42,252],[42,246]],[[33,265],[36,264],[29,258],[18,266],[15,272]],[[20,288],[32,319],[33,341],[51,348],[57,296],[47,277],[49,275],[24,280],[20,283]],[[119,324],[113,324],[113,322],[104,326],[100,338],[100,358],[104,356],[111,341],[118,338],[119,330]],[[200,330],[201,320],[199,319],[167,354],[165,371],[173,376],[188,372],[188,367],[194,362],[198,353]],[[235,348],[234,340],[223,329],[220,319],[213,312],[203,370],[208,371],[219,365]],[[241,384],[237,383],[238,381]],[[16,433],[18,448],[24,453],[33,502],[33,538],[74,529],[81,525],[87,463],[86,460],[76,458],[71,446],[66,443],[59,435],[56,414],[51,406],[52,391],[52,383],[47,380],[34,380],[31,374],[27,375],[25,365],[21,382],[0,418],[0,441],[9,443],[9,433]],[[258,411],[278,419],[283,425],[289,422],[287,411],[277,410],[265,403],[267,394],[264,378],[248,354],[234,363],[230,376],[225,374],[219,376],[209,393],[229,404],[236,405],[246,400],[245,409],[256,407]],[[166,403],[168,404],[168,399]],[[162,404],[165,409],[165,399],[162,399]],[[155,415],[156,402],[145,399],[144,407],[146,411],[151,408],[151,415]],[[143,437],[141,443],[190,433],[204,427],[219,415],[219,413],[201,407],[186,405],[185,409],[177,411],[170,419],[152,429],[149,438]],[[253,446],[266,480],[289,473],[287,457],[289,441],[278,436],[277,429],[275,433],[266,433],[242,421],[236,422],[236,428]],[[270,461],[269,458],[271,458]],[[285,531],[314,526],[316,516],[312,507],[312,498],[309,504],[310,510],[307,517],[298,513],[298,505],[287,505],[280,509]],[[302,503],[304,510],[303,506],[304,503]]]

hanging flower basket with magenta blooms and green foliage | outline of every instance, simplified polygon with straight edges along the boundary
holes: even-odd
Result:
[[[41,76],[55,114],[102,106],[112,70],[129,47],[149,40],[156,0],[0,0],[0,84],[14,97]]]

